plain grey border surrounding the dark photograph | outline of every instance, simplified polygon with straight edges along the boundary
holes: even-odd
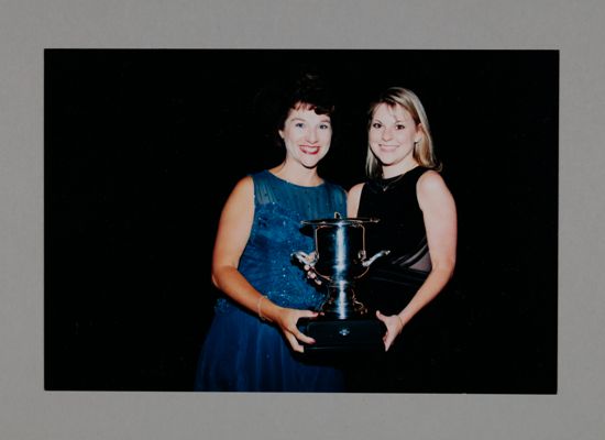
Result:
[[[380,3],[380,4],[378,4]],[[3,438],[597,439],[605,431],[605,54],[598,2],[251,6],[7,2],[0,12]],[[43,391],[43,50],[46,47],[561,51],[557,396],[232,395]],[[4,147],[7,146],[7,147]],[[590,193],[593,193],[588,196]]]

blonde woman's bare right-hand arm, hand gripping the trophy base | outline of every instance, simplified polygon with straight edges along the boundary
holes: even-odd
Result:
[[[409,304],[398,315],[385,317],[378,314],[378,318],[387,327],[386,350],[403,327],[443,289],[455,265],[458,224],[455,202],[450,190],[441,176],[431,170],[425,173],[418,180],[417,196],[427,230],[432,268]]]

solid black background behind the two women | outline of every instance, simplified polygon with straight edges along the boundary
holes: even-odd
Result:
[[[258,92],[299,64],[337,89],[345,188],[374,92],[427,110],[459,253],[426,392],[556,393],[557,51],[45,51],[45,388],[193,388],[220,209],[277,164]]]

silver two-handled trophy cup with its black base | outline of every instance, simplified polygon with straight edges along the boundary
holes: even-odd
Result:
[[[382,322],[367,317],[367,308],[355,295],[355,280],[365,275],[372,263],[389,253],[383,250],[366,257],[365,228],[377,221],[373,218],[341,218],[337,212],[333,219],[301,222],[314,228],[315,251],[310,254],[298,251],[293,257],[308,265],[324,283],[327,290],[320,316],[302,322],[301,330],[318,342],[315,348],[382,346]]]

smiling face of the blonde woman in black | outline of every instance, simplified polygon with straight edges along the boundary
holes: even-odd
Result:
[[[405,173],[417,164],[413,155],[414,144],[421,138],[421,125],[402,106],[382,103],[374,110],[369,141],[385,177]]]

